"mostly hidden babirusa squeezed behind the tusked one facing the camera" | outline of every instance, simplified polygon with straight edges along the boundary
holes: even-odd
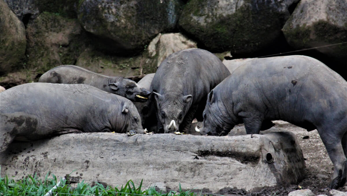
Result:
[[[137,82],[138,85],[143,88],[150,89],[151,82],[153,80],[154,73],[145,75],[140,81]],[[154,105],[151,100],[146,102],[134,102],[138,113],[141,116],[142,127],[150,129],[150,127],[156,126],[156,117],[154,113]],[[154,114],[154,115],[153,115]]]

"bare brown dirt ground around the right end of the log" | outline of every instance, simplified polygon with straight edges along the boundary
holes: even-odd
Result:
[[[246,193],[244,190],[225,189],[220,190],[223,195],[247,195],[247,196],[288,196],[288,193],[299,189],[310,189],[315,195],[330,195],[331,189],[327,188],[333,173],[333,165],[328,156],[327,150],[317,132],[317,130],[306,131],[292,124],[276,125],[275,127],[285,128],[296,134],[298,142],[303,151],[306,163],[306,176],[298,184],[289,187],[277,187],[263,189],[260,192]],[[338,190],[347,192],[347,183]]]

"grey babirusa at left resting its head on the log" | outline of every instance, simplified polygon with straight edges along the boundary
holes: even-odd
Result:
[[[0,93],[0,152],[13,140],[65,133],[143,133],[128,99],[86,84],[28,83]]]

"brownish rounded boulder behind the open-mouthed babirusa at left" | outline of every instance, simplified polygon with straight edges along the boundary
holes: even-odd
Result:
[[[26,36],[26,66],[41,74],[59,65],[75,65],[88,40],[77,19],[50,12],[29,21]]]

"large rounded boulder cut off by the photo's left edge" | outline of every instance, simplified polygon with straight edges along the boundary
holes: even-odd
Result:
[[[0,76],[23,66],[26,38],[22,21],[0,0]]]

